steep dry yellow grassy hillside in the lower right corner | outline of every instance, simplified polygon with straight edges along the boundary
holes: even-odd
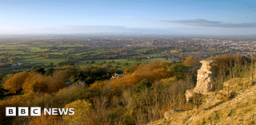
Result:
[[[202,98],[198,113],[197,108],[173,111],[172,115],[165,116],[167,119],[149,124],[255,124],[255,83],[245,78],[234,78],[224,84],[233,86]]]

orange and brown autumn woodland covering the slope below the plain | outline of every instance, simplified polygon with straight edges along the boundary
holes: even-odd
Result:
[[[7,124],[145,124],[162,119],[164,113],[171,109],[189,110],[189,114],[192,115],[188,116],[194,118],[192,113],[195,112],[194,104],[186,104],[185,92],[186,89],[194,88],[196,71],[200,68],[198,61],[201,60],[200,57],[191,56],[180,63],[150,61],[134,64],[124,71],[110,64],[82,67],[64,65],[6,75],[2,79],[3,87],[9,92],[4,93],[12,92],[22,95],[0,102],[2,111],[0,120],[1,123]],[[255,70],[255,61],[252,58],[238,55],[222,55],[210,57],[207,60],[214,60],[213,70],[217,92],[223,90],[222,84],[226,80],[250,76]],[[114,72],[125,72],[126,76],[110,80]],[[72,81],[74,85],[66,87],[66,81]],[[243,89],[249,86],[240,85],[240,87]],[[230,91],[233,94],[234,92]],[[233,96],[232,99],[236,94]],[[6,106],[80,108],[79,105],[82,109],[76,109],[75,112],[78,115],[74,117],[68,115],[42,115],[31,118],[4,116]],[[205,123],[214,119],[206,120]]]

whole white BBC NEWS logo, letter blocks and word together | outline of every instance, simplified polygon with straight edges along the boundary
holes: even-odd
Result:
[[[6,107],[6,116],[16,114],[16,107]],[[74,115],[74,108],[44,108],[43,115]],[[18,116],[29,116],[29,107],[18,107]],[[41,107],[30,107],[30,116],[41,116]]]

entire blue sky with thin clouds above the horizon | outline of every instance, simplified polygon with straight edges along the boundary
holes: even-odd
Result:
[[[1,0],[1,34],[256,34],[254,0]]]

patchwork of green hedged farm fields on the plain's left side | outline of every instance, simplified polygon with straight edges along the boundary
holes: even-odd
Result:
[[[161,52],[160,49],[154,49],[154,45],[134,44],[138,47],[129,49],[122,45],[116,45],[114,48],[107,47],[108,45],[102,40],[103,46],[101,47],[98,46],[100,45],[98,42],[75,42],[81,41],[80,39],[73,41],[50,38],[2,41],[0,42],[0,63],[2,64],[0,72],[26,71],[30,70],[33,65],[45,68],[50,64],[51,66],[112,64],[128,67],[146,61],[172,61],[166,60],[170,55],[164,57],[166,53]],[[18,63],[23,65],[10,66]]]

